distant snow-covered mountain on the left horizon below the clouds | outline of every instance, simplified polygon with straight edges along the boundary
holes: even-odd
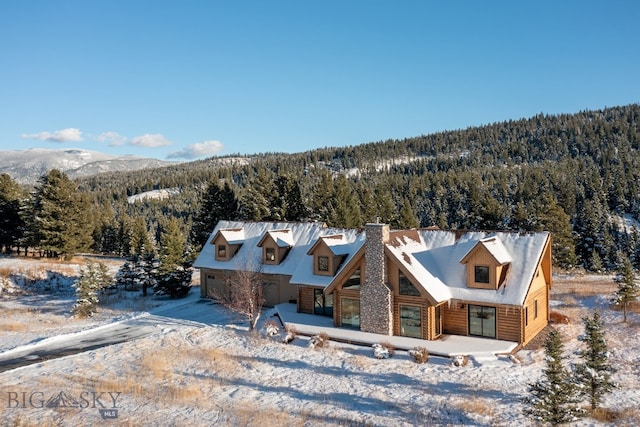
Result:
[[[35,184],[51,169],[59,169],[70,178],[76,178],[104,172],[157,168],[174,163],[146,157],[113,156],[77,148],[0,151],[0,173],[8,174],[20,184]]]

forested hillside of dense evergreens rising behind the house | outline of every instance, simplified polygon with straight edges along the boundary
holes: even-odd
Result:
[[[128,254],[134,224],[141,226],[136,218],[152,236],[179,218],[196,249],[223,218],[341,227],[380,218],[395,227],[549,230],[557,265],[603,271],[628,256],[638,268],[638,230],[622,224],[640,219],[639,116],[638,104],[541,114],[402,140],[213,158],[73,182],[95,210],[86,228],[92,250],[100,252]],[[154,189],[179,191],[164,200],[128,202]]]

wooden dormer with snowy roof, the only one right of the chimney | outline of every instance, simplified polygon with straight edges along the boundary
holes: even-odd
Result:
[[[511,261],[511,254],[498,237],[479,240],[460,260],[467,267],[467,287],[498,289],[507,278]]]

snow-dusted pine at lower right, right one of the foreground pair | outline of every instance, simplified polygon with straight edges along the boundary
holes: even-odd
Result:
[[[615,388],[611,374],[616,369],[609,363],[609,349],[600,314],[594,311],[592,318],[583,317],[582,321],[585,334],[578,339],[585,343],[586,349],[578,351],[584,363],[576,367],[576,376],[582,386],[581,393],[588,397],[593,410],[600,405],[602,397]]]

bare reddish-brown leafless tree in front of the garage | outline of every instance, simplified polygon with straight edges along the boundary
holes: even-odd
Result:
[[[225,281],[227,291],[216,293],[215,298],[224,307],[244,316],[249,321],[249,330],[255,330],[264,304],[261,264],[238,264]]]

